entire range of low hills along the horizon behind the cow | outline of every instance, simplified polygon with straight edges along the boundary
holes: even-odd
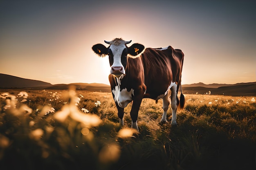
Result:
[[[46,83],[43,81],[31,80],[0,74],[0,89],[8,88],[29,88],[29,89],[69,89],[74,86],[78,90],[90,92],[111,92],[110,85],[101,83],[71,83],[71,84],[56,84]],[[206,94],[211,91],[212,95],[230,95],[230,96],[256,96],[256,82],[251,83],[236,83],[236,84],[204,84],[194,83],[190,85],[182,85],[183,94]]]

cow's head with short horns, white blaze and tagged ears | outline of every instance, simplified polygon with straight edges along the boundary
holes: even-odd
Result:
[[[108,55],[111,67],[110,74],[120,77],[125,74],[127,54],[129,54],[128,57],[136,57],[144,50],[144,46],[137,43],[127,47],[126,44],[129,44],[131,41],[132,40],[124,41],[121,38],[116,38],[112,41],[105,41],[106,44],[110,45],[108,48],[103,44],[96,44],[92,46],[92,50],[100,57]]]

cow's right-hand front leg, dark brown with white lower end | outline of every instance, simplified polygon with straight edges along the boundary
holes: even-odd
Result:
[[[139,107],[141,104],[141,100],[144,96],[144,92],[146,90],[146,87],[143,88],[141,87],[141,89],[134,91],[134,98],[133,98],[133,103],[132,103],[132,109],[130,112],[130,116],[132,118],[132,128],[136,129],[137,131],[139,131],[138,125],[137,125],[137,118],[138,118],[138,113],[139,113]]]

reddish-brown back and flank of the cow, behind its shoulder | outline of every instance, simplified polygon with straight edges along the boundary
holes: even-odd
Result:
[[[166,93],[171,82],[180,81],[184,54],[171,46],[166,49],[146,48],[141,54],[144,67],[146,98],[157,99]]]

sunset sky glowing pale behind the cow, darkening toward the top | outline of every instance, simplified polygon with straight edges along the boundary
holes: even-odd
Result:
[[[0,0],[0,73],[109,84],[114,38],[184,52],[182,84],[256,81],[255,0]]]

